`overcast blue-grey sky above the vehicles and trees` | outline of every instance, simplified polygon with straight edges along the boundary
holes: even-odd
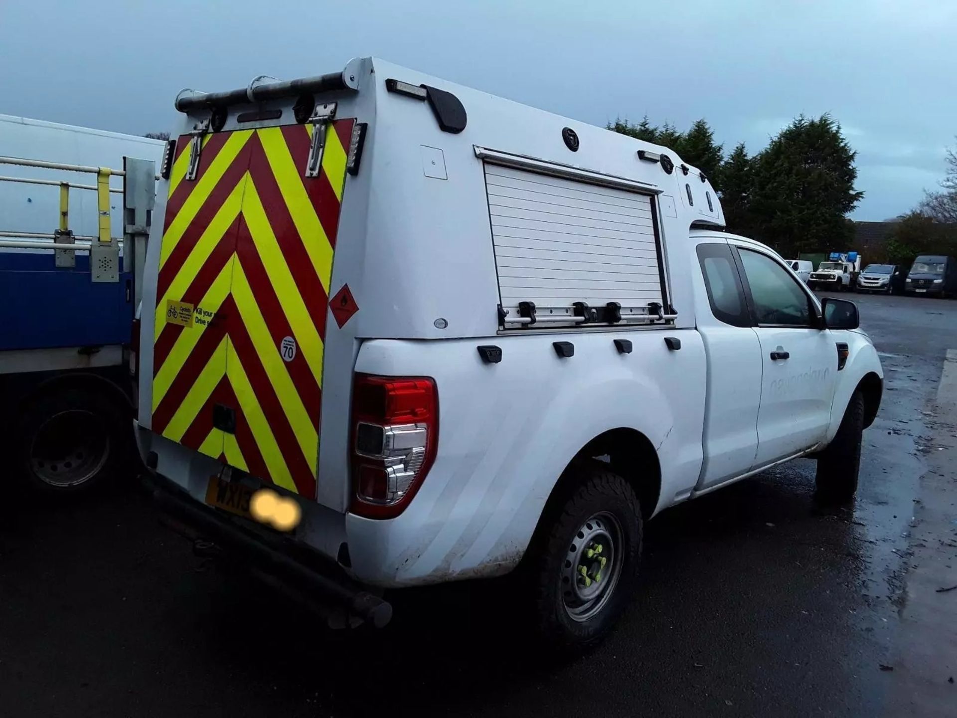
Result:
[[[375,55],[584,122],[749,152],[831,112],[857,149],[854,216],[912,208],[957,134],[954,0],[0,0],[0,113],[142,134],[185,86],[244,86]]]

